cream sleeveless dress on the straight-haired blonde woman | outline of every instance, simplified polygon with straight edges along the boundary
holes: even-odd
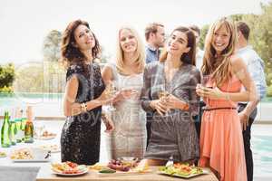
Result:
[[[121,75],[114,64],[112,68],[113,82],[118,90],[134,89],[138,94],[128,100],[114,104],[116,110],[111,111],[115,129],[106,136],[109,158],[138,157],[142,158],[146,149],[146,113],[141,109],[140,93],[142,73],[131,76]]]

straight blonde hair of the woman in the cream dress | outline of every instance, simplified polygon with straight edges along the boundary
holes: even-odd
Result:
[[[129,30],[134,36],[137,41],[137,48],[136,48],[136,59],[134,60],[134,64],[137,66],[137,72],[141,73],[144,69],[145,65],[145,52],[143,48],[143,43],[141,42],[141,38],[139,34],[129,26],[122,26],[118,31],[118,38],[117,38],[117,50],[116,50],[116,67],[117,70],[121,73],[125,72],[124,68],[124,52],[121,49],[120,44],[120,34],[122,30]]]

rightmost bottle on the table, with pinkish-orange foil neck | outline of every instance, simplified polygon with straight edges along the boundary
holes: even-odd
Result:
[[[34,142],[34,125],[32,107],[28,106],[26,109],[26,123],[24,127],[24,143]]]

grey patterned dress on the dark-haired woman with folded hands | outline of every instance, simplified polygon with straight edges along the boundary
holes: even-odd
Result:
[[[189,111],[170,110],[164,116],[154,112],[151,124],[151,140],[145,158],[186,161],[199,157],[199,140],[192,116],[198,114],[199,97],[196,86],[200,72],[195,66],[183,63],[172,80],[165,80],[164,63],[154,62],[146,66],[141,91],[143,110],[152,111],[151,100],[158,100],[158,92],[167,90],[180,100],[189,102]],[[154,110],[153,110],[154,111]]]

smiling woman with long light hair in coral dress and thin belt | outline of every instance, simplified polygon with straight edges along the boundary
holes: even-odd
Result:
[[[200,131],[200,167],[210,167],[220,181],[246,181],[242,129],[237,102],[256,99],[247,67],[236,55],[235,24],[222,18],[209,28],[201,71],[208,78],[197,87],[207,106]],[[205,80],[205,79],[203,79]],[[241,87],[246,89],[240,91]]]

